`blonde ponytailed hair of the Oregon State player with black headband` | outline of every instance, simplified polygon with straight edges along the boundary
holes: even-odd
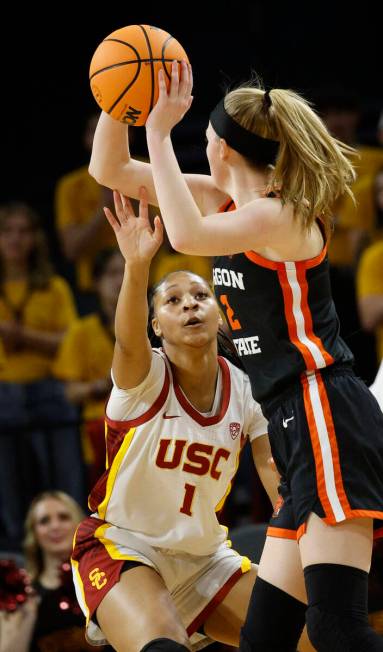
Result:
[[[298,93],[274,88],[268,92],[246,85],[230,91],[227,113],[258,136],[279,141],[269,191],[292,203],[306,228],[321,217],[327,233],[334,201],[350,189],[355,171],[349,160],[356,151],[333,138]]]

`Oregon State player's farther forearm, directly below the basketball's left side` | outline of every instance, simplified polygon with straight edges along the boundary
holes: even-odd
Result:
[[[115,188],[113,179],[129,160],[128,126],[103,111],[94,134],[89,174],[103,186]]]

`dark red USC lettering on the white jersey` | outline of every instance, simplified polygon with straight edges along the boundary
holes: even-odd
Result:
[[[215,450],[210,444],[193,442],[187,446],[185,439],[161,439],[156,465],[160,469],[176,469],[183,462],[183,471],[194,475],[207,475],[210,472],[211,477],[218,480],[222,473],[218,465],[229,457],[230,451],[226,448]]]

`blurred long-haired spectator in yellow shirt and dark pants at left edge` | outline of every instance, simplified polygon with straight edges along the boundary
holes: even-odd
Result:
[[[0,538],[17,546],[31,498],[62,489],[82,500],[76,411],[51,366],[76,317],[55,276],[39,218],[23,203],[0,207]]]

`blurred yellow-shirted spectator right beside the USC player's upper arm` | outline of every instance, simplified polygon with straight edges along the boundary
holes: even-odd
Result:
[[[112,389],[114,316],[123,274],[118,249],[98,254],[93,269],[98,310],[72,324],[54,365],[55,375],[66,382],[68,398],[82,407],[89,490],[105,470],[104,406]]]

